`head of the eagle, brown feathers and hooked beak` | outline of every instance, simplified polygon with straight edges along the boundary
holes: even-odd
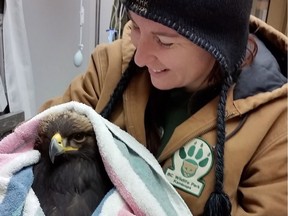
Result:
[[[49,156],[52,163],[57,159],[88,159],[99,155],[91,122],[74,110],[50,114],[42,119],[35,148]]]

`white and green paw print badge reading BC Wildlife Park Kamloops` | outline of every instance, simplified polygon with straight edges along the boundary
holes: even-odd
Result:
[[[172,166],[165,175],[175,187],[195,196],[200,196],[206,176],[213,165],[213,154],[210,146],[200,138],[195,138],[176,151]]]

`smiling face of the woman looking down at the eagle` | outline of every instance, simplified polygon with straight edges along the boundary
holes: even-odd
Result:
[[[162,24],[129,12],[135,63],[146,66],[152,84],[161,90],[204,88],[215,59],[204,49]]]

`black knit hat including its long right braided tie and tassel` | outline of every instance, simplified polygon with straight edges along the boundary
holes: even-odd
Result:
[[[121,0],[134,13],[161,23],[211,53],[220,64],[223,85],[217,117],[215,188],[204,215],[231,215],[223,191],[225,106],[227,91],[246,54],[252,0]]]

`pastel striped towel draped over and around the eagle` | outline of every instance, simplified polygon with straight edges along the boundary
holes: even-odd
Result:
[[[37,148],[35,149],[35,143],[39,142],[38,130],[43,123],[42,120],[49,115],[57,116],[67,111],[84,115],[92,123],[97,149],[109,176],[108,181],[112,182],[111,189],[109,188],[109,191],[101,198],[100,204],[97,205],[92,215],[192,215],[182,198],[166,180],[157,160],[143,145],[116,125],[102,118],[91,107],[78,102],[69,102],[51,107],[36,115],[19,125],[13,133],[0,141],[1,216],[44,215],[40,199],[35,193],[39,189],[37,188],[39,183],[34,187],[36,173],[35,177],[33,174],[33,168],[41,162],[44,155],[41,155]],[[55,138],[57,140],[59,136],[56,135]],[[82,138],[79,136],[75,139],[79,141]],[[72,147],[77,150],[79,147],[77,145],[77,143],[73,144]],[[55,160],[53,163],[58,163],[57,152],[64,151],[64,147],[58,146],[60,150],[58,147],[55,150],[55,146],[51,146],[48,150],[49,157],[52,161]],[[105,171],[104,174],[102,173],[103,176],[106,175]],[[41,180],[39,173],[41,172],[38,172],[37,178]],[[47,172],[43,170],[43,173]],[[79,178],[80,175],[82,173],[79,173]],[[61,174],[59,178],[61,181]],[[75,176],[73,178],[77,179]],[[45,178],[43,179],[45,181]],[[71,178],[67,179],[68,181],[71,181]],[[108,183],[104,182],[104,184]],[[101,185],[97,186],[101,187]],[[61,189],[64,186],[56,184],[55,188],[57,187]],[[36,190],[34,191],[33,188]],[[76,189],[74,193],[77,192],[81,193]],[[41,199],[43,197],[45,196],[41,195]]]

